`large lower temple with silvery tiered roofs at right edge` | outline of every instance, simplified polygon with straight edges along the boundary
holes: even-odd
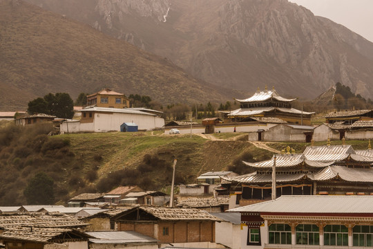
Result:
[[[275,161],[276,160],[276,161]],[[351,145],[310,146],[303,154],[275,155],[258,163],[244,162],[250,174],[222,177],[230,182],[229,208],[271,199],[272,168],[276,197],[283,195],[373,195],[373,153]],[[228,187],[228,186],[226,186]]]

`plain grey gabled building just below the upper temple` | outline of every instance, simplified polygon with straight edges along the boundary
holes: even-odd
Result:
[[[261,134],[260,134],[261,133]],[[277,124],[267,131],[249,134],[249,141],[311,142],[314,127],[298,124]]]

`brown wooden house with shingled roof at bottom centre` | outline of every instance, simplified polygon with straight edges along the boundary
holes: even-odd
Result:
[[[113,218],[119,231],[135,231],[162,244],[211,248],[220,219],[194,208],[136,206]],[[217,245],[216,245],[217,246]]]

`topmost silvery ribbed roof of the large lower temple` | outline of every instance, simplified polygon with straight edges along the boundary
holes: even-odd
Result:
[[[310,146],[305,149],[303,155],[307,160],[332,161],[345,160],[350,154],[354,154],[351,145]]]

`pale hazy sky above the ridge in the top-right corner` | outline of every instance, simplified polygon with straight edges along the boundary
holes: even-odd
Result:
[[[373,42],[373,0],[289,0]]]

